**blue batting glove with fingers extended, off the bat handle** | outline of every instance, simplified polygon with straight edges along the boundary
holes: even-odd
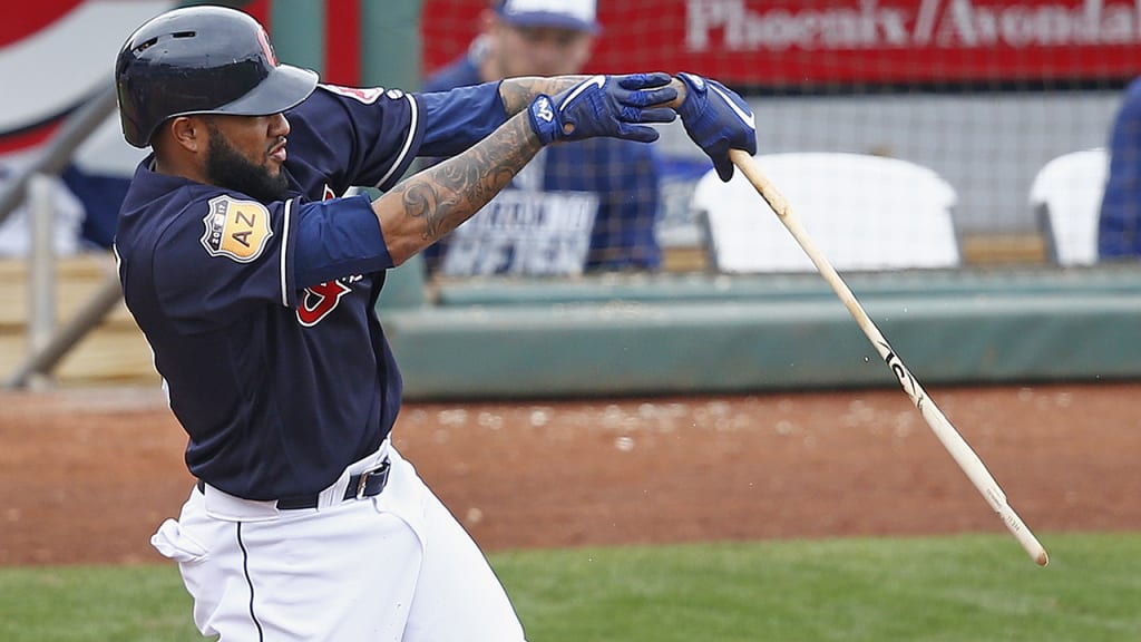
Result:
[[[657,141],[646,122],[672,122],[673,110],[664,106],[678,97],[665,73],[594,75],[553,98],[536,96],[527,113],[531,127],[544,145],[556,141],[581,141],[596,136],[640,143]]]

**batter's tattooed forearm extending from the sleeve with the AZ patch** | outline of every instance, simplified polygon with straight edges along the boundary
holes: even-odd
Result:
[[[479,211],[540,147],[526,113],[517,114],[467,152],[374,200],[372,210],[393,262],[400,265]]]

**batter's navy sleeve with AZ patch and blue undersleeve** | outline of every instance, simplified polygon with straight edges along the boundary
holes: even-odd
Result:
[[[154,283],[184,332],[224,328],[254,307],[296,307],[307,287],[393,267],[367,196],[264,206],[221,194],[161,234]]]

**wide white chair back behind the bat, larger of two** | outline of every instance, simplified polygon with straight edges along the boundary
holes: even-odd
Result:
[[[756,163],[837,271],[956,267],[955,191],[913,162],[841,152],[760,154]],[[720,272],[812,272],[803,249],[738,170],[712,170],[691,207]]]

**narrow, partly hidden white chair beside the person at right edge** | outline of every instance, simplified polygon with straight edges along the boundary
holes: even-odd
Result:
[[[1109,177],[1103,147],[1062,154],[1038,170],[1030,185],[1030,209],[1058,265],[1098,262],[1098,216]]]

